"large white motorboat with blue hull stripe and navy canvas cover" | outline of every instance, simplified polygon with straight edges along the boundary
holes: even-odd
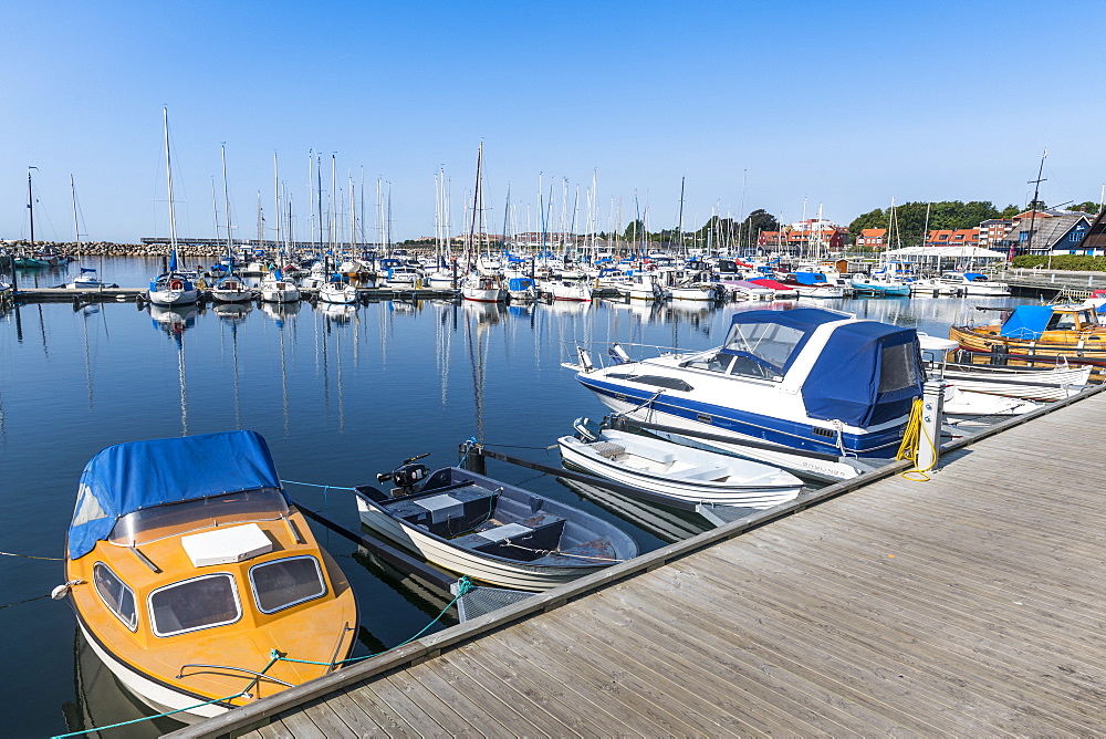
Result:
[[[830,478],[855,476],[857,457],[894,458],[926,378],[914,329],[821,308],[742,311],[726,343],[706,351],[576,353],[564,366],[618,414]]]

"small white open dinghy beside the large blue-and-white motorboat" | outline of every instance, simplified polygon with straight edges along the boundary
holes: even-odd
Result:
[[[557,439],[561,458],[585,472],[649,492],[695,502],[771,508],[793,500],[803,481],[762,462],[748,461],[637,434],[589,428]]]

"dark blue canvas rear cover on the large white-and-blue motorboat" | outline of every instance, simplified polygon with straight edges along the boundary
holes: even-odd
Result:
[[[914,329],[857,321],[831,334],[803,383],[803,402],[813,418],[864,428],[909,413],[925,381]]]

